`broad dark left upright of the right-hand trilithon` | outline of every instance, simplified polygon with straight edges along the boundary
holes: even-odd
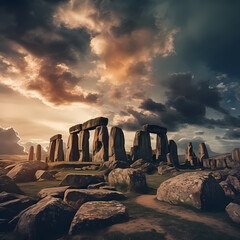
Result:
[[[139,130],[135,134],[132,149],[132,160],[136,161],[140,158],[147,162],[152,160],[152,147],[148,131]]]

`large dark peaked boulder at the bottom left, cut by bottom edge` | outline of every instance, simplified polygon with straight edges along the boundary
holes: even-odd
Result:
[[[15,232],[24,239],[56,239],[68,231],[74,213],[61,199],[46,197],[19,214]]]

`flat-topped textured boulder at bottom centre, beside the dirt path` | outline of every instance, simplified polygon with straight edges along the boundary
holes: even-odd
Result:
[[[87,202],[79,208],[74,216],[69,234],[78,234],[85,230],[95,230],[124,222],[127,219],[127,209],[119,202]]]

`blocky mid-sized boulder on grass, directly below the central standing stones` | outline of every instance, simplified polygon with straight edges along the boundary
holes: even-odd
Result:
[[[116,168],[108,175],[110,185],[126,186],[130,191],[144,192],[147,189],[145,174],[132,168]]]

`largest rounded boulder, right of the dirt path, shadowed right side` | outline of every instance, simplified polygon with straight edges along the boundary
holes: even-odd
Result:
[[[225,207],[225,194],[208,172],[188,172],[163,182],[157,199],[174,205],[184,204],[201,210]]]

